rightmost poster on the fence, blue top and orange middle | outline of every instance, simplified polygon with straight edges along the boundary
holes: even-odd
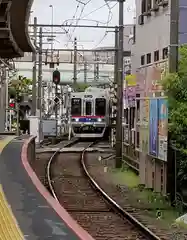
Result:
[[[158,100],[158,158],[167,160],[168,101]]]

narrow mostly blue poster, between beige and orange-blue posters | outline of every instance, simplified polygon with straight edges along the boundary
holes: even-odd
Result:
[[[150,99],[149,103],[149,154],[158,155],[158,100]]]

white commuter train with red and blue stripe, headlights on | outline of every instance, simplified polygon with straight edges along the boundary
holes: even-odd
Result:
[[[107,89],[89,87],[71,95],[71,129],[78,138],[108,138],[110,96]]]

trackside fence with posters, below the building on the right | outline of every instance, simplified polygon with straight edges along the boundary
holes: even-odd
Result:
[[[166,97],[136,98],[124,116],[124,161],[139,173],[142,184],[166,192]]]

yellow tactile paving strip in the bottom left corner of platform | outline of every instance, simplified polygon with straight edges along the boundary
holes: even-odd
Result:
[[[0,240],[24,240],[14,214],[0,185]]]

